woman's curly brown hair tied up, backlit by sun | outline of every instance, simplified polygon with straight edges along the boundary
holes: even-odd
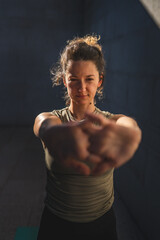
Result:
[[[56,67],[51,67],[51,80],[53,86],[61,85],[63,83],[63,76],[67,70],[68,61],[92,61],[94,62],[99,77],[102,80],[101,86],[97,89],[99,98],[103,96],[103,83],[105,76],[105,60],[102,52],[102,46],[98,43],[100,36],[86,35],[84,37],[75,37],[73,40],[68,40],[67,45],[60,54],[60,59]],[[65,93],[66,104],[70,102],[68,93]]]

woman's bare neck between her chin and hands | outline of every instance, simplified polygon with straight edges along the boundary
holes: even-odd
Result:
[[[69,110],[71,111],[75,119],[82,120],[85,118],[86,112],[94,112],[95,105],[92,103],[89,105],[77,105],[71,103],[69,106]]]

